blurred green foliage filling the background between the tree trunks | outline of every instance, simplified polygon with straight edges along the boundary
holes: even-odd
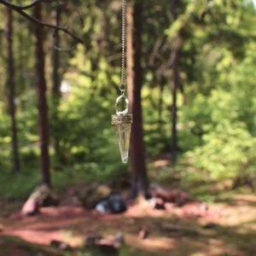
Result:
[[[71,91],[54,100],[52,33],[47,35],[51,172],[53,185],[110,181],[127,172],[110,125],[119,84],[119,1],[67,1],[61,23],[83,39],[76,51],[61,53],[60,77]],[[83,4],[82,4],[83,3]],[[256,23],[251,1],[179,1],[173,20],[170,1],[144,1],[143,130],[147,156],[171,144],[170,83],[173,42],[182,40],[177,95],[179,157],[189,162],[184,178],[224,180],[253,177],[256,138]],[[55,5],[47,5],[51,12]],[[66,9],[67,8],[67,9]],[[79,8],[79,15],[78,14]],[[5,15],[0,6],[0,35]],[[51,15],[45,15],[51,22]],[[83,23],[83,24],[81,24]],[[32,26],[15,14],[15,82],[22,164],[13,176],[6,51],[0,53],[0,195],[26,197],[40,181],[38,110]],[[27,39],[29,38],[29,40]],[[61,33],[61,46],[73,42]],[[0,38],[6,49],[7,40]],[[59,149],[55,151],[55,143]],[[179,170],[178,170],[179,171]],[[191,172],[190,172],[191,171]],[[204,176],[201,175],[204,173]]]

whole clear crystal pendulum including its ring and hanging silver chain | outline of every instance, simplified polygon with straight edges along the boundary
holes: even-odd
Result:
[[[130,148],[132,114],[129,114],[129,101],[125,96],[125,0],[122,0],[122,3],[122,67],[121,84],[119,86],[121,96],[115,102],[116,114],[112,116],[112,125],[119,144],[121,159],[126,164],[128,162]]]

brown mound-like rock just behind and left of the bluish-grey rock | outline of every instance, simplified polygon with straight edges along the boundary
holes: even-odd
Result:
[[[79,191],[78,198],[84,207],[93,209],[99,201],[107,199],[111,194],[112,189],[107,185],[91,184]]]

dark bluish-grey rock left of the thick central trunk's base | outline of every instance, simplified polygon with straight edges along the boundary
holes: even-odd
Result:
[[[100,201],[96,205],[96,211],[102,213],[122,213],[127,210],[125,201],[120,195],[110,195],[108,199]]]

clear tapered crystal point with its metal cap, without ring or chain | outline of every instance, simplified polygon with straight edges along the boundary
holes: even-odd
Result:
[[[119,144],[121,159],[124,164],[128,162],[132,115],[113,115],[112,124]]]

